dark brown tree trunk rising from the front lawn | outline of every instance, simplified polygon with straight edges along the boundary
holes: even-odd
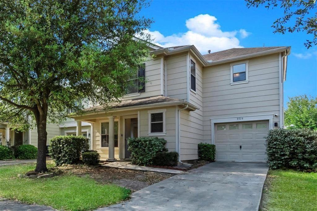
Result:
[[[39,115],[39,119],[36,120],[37,125],[37,160],[36,160],[36,172],[47,172],[46,168],[46,119],[47,115]]]

